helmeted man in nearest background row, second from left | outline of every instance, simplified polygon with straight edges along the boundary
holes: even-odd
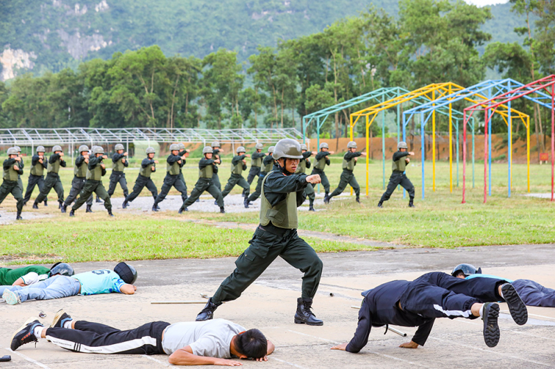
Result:
[[[87,181],[85,181],[85,186],[83,186],[83,190],[74,206],[71,206],[71,211],[69,212],[70,217],[75,216],[75,210],[85,204],[85,201],[92,195],[92,192],[96,193],[96,195],[99,195],[99,197],[104,200],[104,207],[108,210],[108,215],[110,215],[110,217],[114,216],[112,214],[110,195],[108,195],[108,192],[106,192],[102,184],[102,177],[106,174],[106,165],[102,161],[108,159],[108,156],[104,155],[104,149],[101,146],[94,147],[92,154],[93,157],[89,158],[89,165],[87,168]]]

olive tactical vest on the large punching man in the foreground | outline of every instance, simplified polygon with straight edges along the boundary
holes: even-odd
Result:
[[[271,206],[264,195],[264,183],[268,175],[262,180],[262,202],[260,203],[260,224],[267,226],[270,222],[276,227],[293,229],[297,228],[297,193],[289,192],[283,201]]]

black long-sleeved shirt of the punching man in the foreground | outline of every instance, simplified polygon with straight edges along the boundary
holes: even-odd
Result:
[[[278,202],[283,201],[290,192],[297,193],[297,206],[301,206],[305,201],[303,192],[309,184],[307,182],[308,176],[306,174],[284,175],[277,164],[273,166],[272,171],[264,182],[264,196],[271,206],[275,206]]]

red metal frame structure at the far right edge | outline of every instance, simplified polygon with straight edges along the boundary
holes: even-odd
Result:
[[[518,82],[517,82],[518,83]],[[520,83],[518,83],[520,84]],[[547,91],[544,93],[543,90]],[[551,91],[549,91],[551,90]],[[530,96],[531,94],[535,96]],[[554,201],[554,168],[555,168],[555,75],[549,75],[545,78],[540,80],[536,80],[534,82],[530,82],[529,84],[520,84],[519,87],[513,89],[511,91],[507,91],[505,93],[499,94],[489,100],[480,102],[478,104],[472,105],[471,107],[467,107],[464,109],[464,121],[466,122],[468,118],[472,116],[472,114],[477,110],[484,110],[485,119],[485,126],[484,126],[484,148],[488,147],[488,132],[490,132],[490,127],[488,129],[490,119],[493,113],[497,111],[499,107],[504,105],[509,105],[512,100],[518,98],[527,98],[538,105],[542,105],[543,107],[547,107],[551,111],[551,201]],[[492,113],[490,114],[490,110]],[[528,122],[529,125],[529,122]],[[464,126],[465,129],[463,131],[463,141],[466,142],[466,125]],[[512,127],[511,121],[509,120],[509,142],[512,140]],[[529,142],[528,142],[529,145]],[[511,152],[509,152],[509,163],[511,162]],[[487,150],[484,150],[484,204],[487,201],[487,166],[486,166],[486,159],[487,159]],[[529,156],[529,153],[528,153]],[[466,148],[463,145],[463,204],[466,203],[466,191],[465,191],[465,184],[466,184]],[[528,176],[530,172],[528,172]],[[511,177],[511,167],[509,165],[509,177]]]

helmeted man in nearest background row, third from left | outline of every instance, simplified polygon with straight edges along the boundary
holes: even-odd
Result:
[[[183,205],[179,209],[179,214],[183,213],[184,211],[188,211],[187,207],[191,206],[203,192],[208,191],[214,199],[216,199],[216,203],[220,206],[220,213],[225,213],[223,209],[223,197],[221,196],[220,190],[214,185],[214,181],[212,181],[212,174],[214,173],[214,168],[216,164],[220,161],[219,159],[213,160],[212,159],[212,147],[205,146],[203,148],[203,155],[204,158],[200,159],[198,162],[198,181],[196,181],[195,188],[191,191],[191,196],[185,201],[183,201]]]

